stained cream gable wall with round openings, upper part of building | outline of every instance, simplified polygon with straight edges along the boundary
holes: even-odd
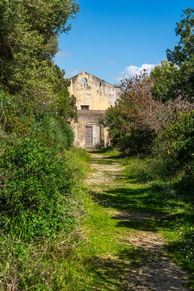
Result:
[[[83,78],[87,80],[86,83],[83,83]],[[78,110],[81,105],[89,105],[90,110],[106,110],[111,105],[114,106],[119,97],[120,89],[86,72],[70,78],[69,81],[69,92],[76,97]]]

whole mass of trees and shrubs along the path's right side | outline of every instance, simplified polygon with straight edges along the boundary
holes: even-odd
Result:
[[[121,154],[149,156],[145,178],[178,179],[179,188],[193,189],[193,9],[184,11],[176,35],[178,46],[150,76],[144,70],[121,82],[120,99],[104,123]]]

